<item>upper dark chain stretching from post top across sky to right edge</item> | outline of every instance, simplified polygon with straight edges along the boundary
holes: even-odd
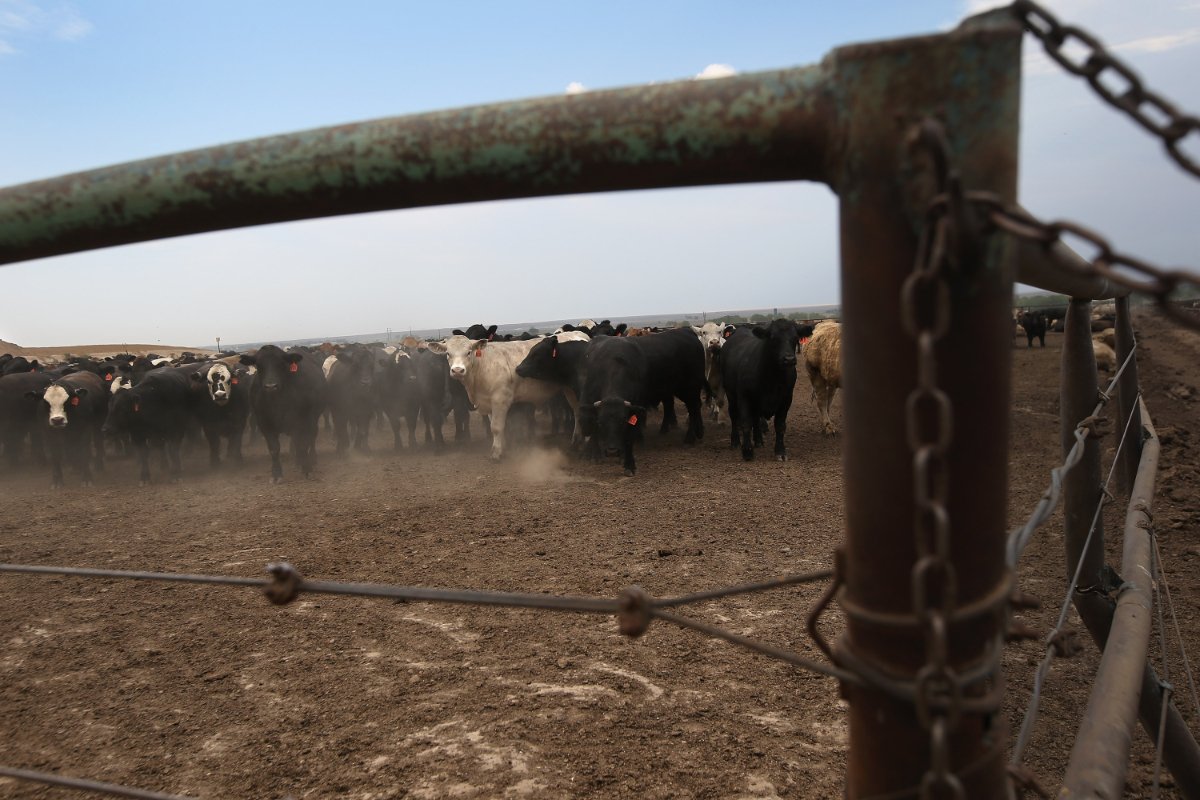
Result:
[[[1162,139],[1175,163],[1200,178],[1200,163],[1183,152],[1181,146],[1192,134],[1200,140],[1200,118],[1182,113],[1162,95],[1146,89],[1128,64],[1112,55],[1087,31],[1062,24],[1032,0],[1015,0],[1012,8],[1025,30],[1042,42],[1046,55],[1067,72],[1086,79],[1109,106],[1124,112]],[[1073,43],[1086,48],[1085,58],[1072,60],[1067,48]],[[1111,84],[1105,83],[1106,77]]]

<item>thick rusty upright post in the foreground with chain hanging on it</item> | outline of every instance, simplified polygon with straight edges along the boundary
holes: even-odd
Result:
[[[935,170],[907,137],[941,121],[950,158],[970,190],[1010,201],[1016,190],[1020,30],[1001,18],[940,37],[839,49],[835,107],[844,154],[840,200],[845,409],[846,633],[838,657],[914,685],[928,658],[914,614],[913,450],[906,403],[917,385],[916,343],[901,320],[901,287],[937,191]],[[970,264],[947,276],[949,329],[936,343],[938,387],[953,405],[946,456],[946,507],[958,606],[1004,601],[1012,269],[1007,241],[991,236]],[[947,661],[955,670],[985,658],[996,614],[952,618]],[[847,796],[918,793],[938,769],[930,729],[912,699],[842,686],[850,702]],[[983,686],[967,690],[979,694]],[[1001,715],[964,712],[943,739],[946,774],[962,794],[1007,796]],[[942,786],[947,786],[944,782]],[[904,796],[908,796],[905,794]],[[935,790],[935,796],[942,796]],[[947,795],[949,796],[949,795]]]

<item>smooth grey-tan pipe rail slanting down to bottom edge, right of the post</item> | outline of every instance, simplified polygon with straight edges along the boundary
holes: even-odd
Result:
[[[1124,792],[1129,746],[1154,620],[1148,531],[1152,527],[1159,446],[1148,415],[1144,420],[1146,440],[1126,512],[1121,559],[1123,583],[1060,796],[1118,798]]]

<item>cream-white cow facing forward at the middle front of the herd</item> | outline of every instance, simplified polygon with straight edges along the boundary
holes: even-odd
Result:
[[[440,342],[430,342],[430,351],[446,356],[450,377],[462,383],[480,414],[492,421],[492,459],[504,455],[504,422],[514,403],[541,405],[559,392],[566,395],[575,414],[575,435],[581,435],[578,404],[575,392],[557,384],[517,375],[517,365],[524,361],[529,350],[541,339],[524,342],[488,342],[451,336]],[[559,342],[587,342],[588,335],[568,331],[558,335]]]

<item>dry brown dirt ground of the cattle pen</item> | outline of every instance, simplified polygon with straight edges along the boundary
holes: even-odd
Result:
[[[1200,587],[1200,336],[1139,323],[1141,378],[1164,453],[1157,533],[1193,660]],[[1060,459],[1062,336],[1014,357],[1009,527]],[[841,420],[840,403],[835,420]],[[652,420],[652,423],[654,420]],[[792,461],[744,464],[728,428],[648,437],[635,479],[538,446],[493,465],[478,421],[442,457],[336,459],[314,480],[284,464],[271,486],[259,437],[247,463],[139,489],[113,459],[95,488],[52,492],[0,473],[0,561],[306,577],[614,597],[827,567],[842,536],[841,440],[820,433],[802,379]],[[448,426],[448,429],[449,426]],[[388,444],[388,446],[384,446]],[[1111,449],[1111,437],[1108,443]],[[1106,469],[1106,463],[1105,463]],[[1123,503],[1118,504],[1123,506]],[[1120,563],[1118,511],[1109,515]],[[1045,632],[1066,591],[1061,513],[1030,547],[1021,588]],[[803,619],[821,585],[682,613],[816,657]],[[836,633],[836,613],[827,630]],[[1076,621],[1078,624],[1078,621]],[[838,798],[846,762],[835,681],[655,622],[640,639],[607,616],[251,589],[0,576],[0,764],[200,798]],[[1027,762],[1056,787],[1096,669],[1096,648],[1055,663]],[[1177,650],[1174,643],[1169,648]],[[1008,648],[1015,735],[1042,644]],[[1195,729],[1187,680],[1171,676]],[[1150,796],[1153,752],[1135,736],[1128,796]],[[1166,778],[1163,796],[1177,796]],[[2,798],[68,796],[0,778]]]

